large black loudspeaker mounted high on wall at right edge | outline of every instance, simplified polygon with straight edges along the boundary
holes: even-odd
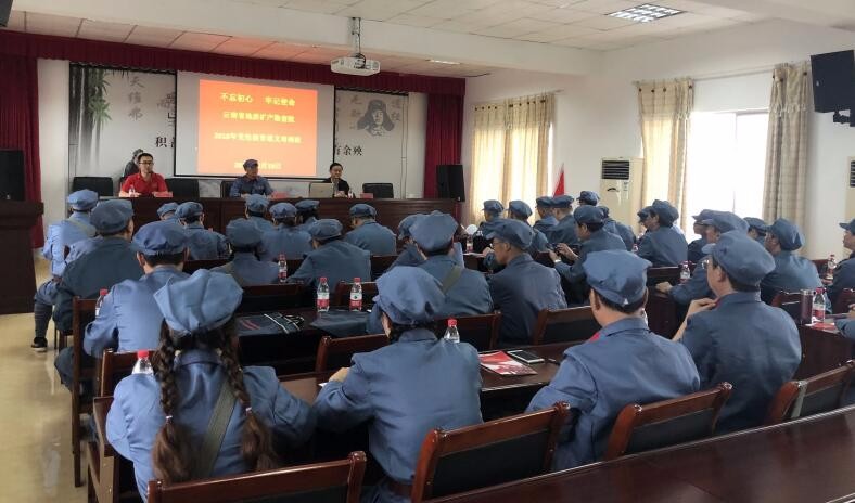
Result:
[[[814,75],[814,111],[855,108],[855,51],[814,54],[811,56],[811,70]]]

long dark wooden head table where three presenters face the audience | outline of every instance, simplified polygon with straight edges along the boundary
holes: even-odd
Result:
[[[161,197],[136,197],[130,202],[133,205],[133,222],[137,228],[145,223],[158,220],[157,208],[169,203],[183,203],[186,201],[197,201],[205,210],[205,228],[213,228],[222,234],[226,233],[226,225],[235,218],[244,216],[245,202],[241,198],[219,198],[202,197],[199,199],[188,198],[161,198]],[[279,202],[296,203],[299,199],[277,199]],[[377,209],[377,221],[393,231],[397,231],[398,223],[412,214],[429,214],[434,209],[450,214],[458,221],[460,220],[460,205],[454,199],[345,199],[329,198],[319,199],[320,206],[318,214],[320,218],[334,218],[342,222],[345,230],[350,229],[350,206],[357,203],[366,203]],[[30,302],[31,304],[31,302]]]

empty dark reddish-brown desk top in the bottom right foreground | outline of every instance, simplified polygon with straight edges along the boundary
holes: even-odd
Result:
[[[855,407],[431,501],[848,501],[853,465]]]

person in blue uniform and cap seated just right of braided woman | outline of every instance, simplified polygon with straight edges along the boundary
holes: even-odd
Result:
[[[386,474],[362,502],[409,502],[424,436],[482,422],[475,348],[437,340],[433,320],[445,304],[439,282],[399,266],[378,280],[374,308],[388,346],[354,354],[315,400],[318,425],[334,431],[370,421],[369,449]]]

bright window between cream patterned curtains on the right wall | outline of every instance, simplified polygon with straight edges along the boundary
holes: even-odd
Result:
[[[768,112],[693,113],[686,207],[762,218]],[[687,236],[691,238],[691,236]]]

